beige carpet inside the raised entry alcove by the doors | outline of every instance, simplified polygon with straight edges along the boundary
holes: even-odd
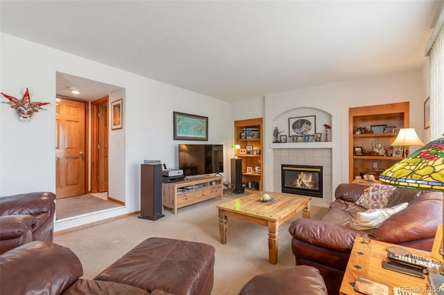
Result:
[[[94,195],[81,195],[56,199],[56,220],[84,215],[96,211],[120,207],[119,204],[106,201]]]

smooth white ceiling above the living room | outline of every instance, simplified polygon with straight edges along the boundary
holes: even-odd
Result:
[[[236,101],[418,69],[443,0],[0,5],[3,33]]]

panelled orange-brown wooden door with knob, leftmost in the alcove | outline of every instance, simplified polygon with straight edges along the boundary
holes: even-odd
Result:
[[[56,195],[85,194],[87,102],[60,99],[56,106]]]

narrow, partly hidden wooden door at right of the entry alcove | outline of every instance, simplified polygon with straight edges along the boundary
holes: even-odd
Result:
[[[108,106],[99,105],[98,188],[99,193],[108,191]]]

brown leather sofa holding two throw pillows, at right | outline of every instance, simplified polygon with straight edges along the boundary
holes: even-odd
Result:
[[[388,217],[378,229],[351,229],[348,222],[358,212],[367,210],[355,204],[366,188],[359,184],[340,184],[335,191],[335,201],[321,220],[300,218],[289,227],[296,265],[319,269],[329,294],[339,294],[357,236],[431,251],[436,227],[443,222],[441,193],[396,188],[386,207],[408,202],[407,208]]]

